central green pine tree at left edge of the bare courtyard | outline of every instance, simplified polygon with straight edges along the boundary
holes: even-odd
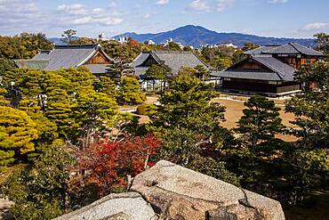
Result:
[[[210,103],[215,96],[213,86],[197,77],[180,75],[171,82],[168,91],[161,95],[153,124],[160,127],[181,126],[197,132],[212,133],[224,119],[225,108]]]

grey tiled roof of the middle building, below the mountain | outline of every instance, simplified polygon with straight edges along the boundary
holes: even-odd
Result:
[[[173,70],[173,74],[177,74],[181,67],[194,68],[197,65],[203,65],[205,68],[208,68],[205,62],[201,61],[197,54],[193,52],[151,51],[150,53],[140,53],[133,61],[133,66],[139,75],[148,69],[143,64],[149,57],[152,57],[158,64],[164,61],[164,64],[168,65]]]

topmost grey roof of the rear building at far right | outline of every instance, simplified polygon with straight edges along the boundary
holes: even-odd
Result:
[[[261,54],[303,54],[309,56],[324,56],[323,53],[313,50],[307,46],[297,43],[289,43],[286,45],[269,45],[261,46],[254,50],[245,52],[248,55],[261,55]]]

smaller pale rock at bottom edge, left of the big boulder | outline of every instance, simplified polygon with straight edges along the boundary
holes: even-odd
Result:
[[[56,220],[152,220],[156,213],[139,193],[110,194]]]

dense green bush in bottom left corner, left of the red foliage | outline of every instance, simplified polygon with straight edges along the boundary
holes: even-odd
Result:
[[[75,159],[68,147],[43,149],[34,164],[13,173],[1,187],[0,197],[14,202],[14,219],[52,219],[68,207],[68,167]],[[72,204],[73,205],[73,204]]]

